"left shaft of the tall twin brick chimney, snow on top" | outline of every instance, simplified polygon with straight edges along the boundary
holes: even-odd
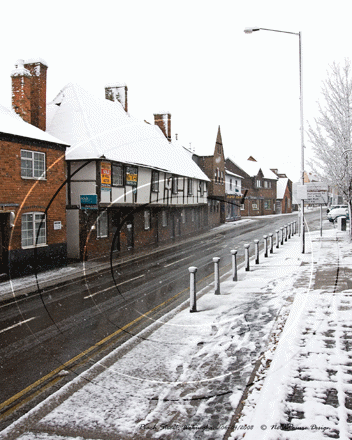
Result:
[[[32,75],[29,70],[25,69],[23,60],[16,62],[11,78],[12,108],[25,122],[30,124]]]

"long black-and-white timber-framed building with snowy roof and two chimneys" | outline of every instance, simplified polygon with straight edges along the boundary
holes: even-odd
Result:
[[[127,113],[127,87],[99,99],[68,84],[48,104],[47,130],[71,146],[67,162],[68,256],[119,255],[207,225],[207,176],[170,142],[171,116],[155,125]]]

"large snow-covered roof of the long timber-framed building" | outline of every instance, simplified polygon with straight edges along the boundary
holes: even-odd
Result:
[[[156,125],[127,114],[119,102],[99,99],[68,84],[47,106],[47,131],[71,145],[67,160],[105,159],[209,180]]]

